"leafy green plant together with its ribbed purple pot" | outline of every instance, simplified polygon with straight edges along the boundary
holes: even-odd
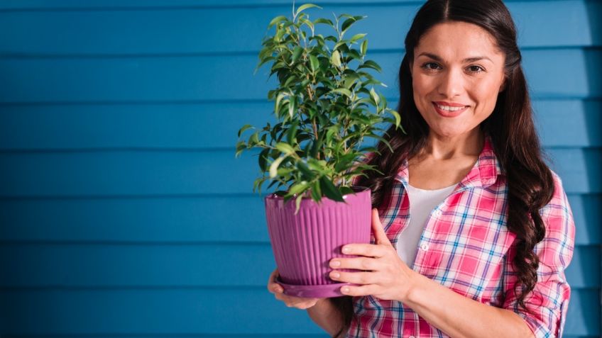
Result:
[[[371,74],[381,67],[366,60],[366,34],[346,38],[365,17],[310,21],[303,11],[312,7],[320,8],[304,4],[295,10],[293,4],[292,18],[277,16],[269,23],[275,33],[263,39],[256,70],[271,64],[269,77],[278,78],[268,91],[278,123],[240,128],[236,157],[261,150],[261,177],[253,192],[261,194],[265,181],[275,186],[265,197],[266,218],[285,293],[336,297],[343,283],[328,278],[329,260],[343,256],[341,245],[370,242],[370,189],[353,183],[363,171],[376,170],[365,159],[378,150],[362,142],[372,138],[388,145],[378,135],[385,132],[379,125],[399,128],[400,116],[374,88],[384,84]],[[317,33],[324,26],[334,35]],[[240,140],[246,130],[255,131]]]

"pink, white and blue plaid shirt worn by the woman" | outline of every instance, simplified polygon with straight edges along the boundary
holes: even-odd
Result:
[[[575,226],[562,181],[552,174],[554,197],[540,210],[546,235],[535,246],[540,257],[537,284],[525,298],[535,316],[518,309],[513,291],[518,281],[512,266],[516,235],[506,227],[508,185],[488,136],[469,174],[429,215],[416,248],[414,271],[465,297],[518,313],[535,337],[562,337],[571,295],[564,269],[573,257]],[[379,210],[393,245],[410,221],[407,180],[405,161],[385,196],[388,203]],[[347,338],[449,337],[399,301],[372,295],[353,301]]]

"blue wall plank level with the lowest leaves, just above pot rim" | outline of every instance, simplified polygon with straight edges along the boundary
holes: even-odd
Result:
[[[602,192],[602,150],[547,149],[567,193]],[[0,197],[249,193],[256,150],[0,152]]]

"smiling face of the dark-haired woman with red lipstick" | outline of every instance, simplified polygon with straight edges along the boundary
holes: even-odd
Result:
[[[468,135],[490,116],[503,89],[504,60],[493,36],[472,23],[439,23],[422,35],[410,69],[430,132]]]

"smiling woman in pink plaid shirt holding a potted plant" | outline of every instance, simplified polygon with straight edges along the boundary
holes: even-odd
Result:
[[[385,175],[357,182],[373,192],[374,241],[330,261],[356,286],[295,298],[276,270],[268,289],[333,337],[560,337],[574,221],[542,160],[508,9],[427,1],[405,51],[407,135],[390,128],[395,152],[381,143],[369,159]]]

